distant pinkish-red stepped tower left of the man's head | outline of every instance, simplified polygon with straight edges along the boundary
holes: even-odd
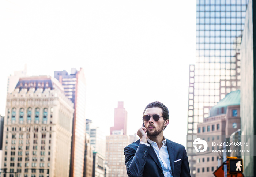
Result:
[[[124,102],[118,101],[117,108],[115,108],[114,114],[114,127],[110,128],[110,134],[113,131],[123,131],[123,135],[127,133],[127,111],[124,108]]]

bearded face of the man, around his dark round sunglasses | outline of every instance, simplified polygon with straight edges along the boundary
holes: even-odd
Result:
[[[159,116],[162,115],[162,108],[159,107],[154,107],[154,108],[147,108],[144,115],[150,115],[150,120],[149,121],[143,121],[144,125],[147,129],[147,135],[149,136],[157,136],[159,135],[165,126],[168,125],[169,120],[164,120],[163,117],[160,117],[158,121],[155,121],[152,117],[153,114],[158,114]]]

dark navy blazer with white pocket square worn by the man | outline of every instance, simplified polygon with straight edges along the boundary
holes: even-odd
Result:
[[[164,177],[153,147],[139,144],[140,139],[124,148],[125,165],[129,177]],[[190,177],[185,147],[166,139],[173,177]],[[181,160],[179,160],[181,159]],[[176,162],[174,162],[176,161]]]

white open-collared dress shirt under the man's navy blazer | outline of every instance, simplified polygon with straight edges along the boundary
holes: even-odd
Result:
[[[163,145],[160,149],[158,148],[156,142],[153,142],[149,138],[147,140],[151,144],[153,149],[155,150],[155,154],[157,154],[157,158],[158,158],[158,160],[161,164],[164,176],[165,177],[173,177],[172,176],[172,169],[171,169],[171,165],[170,165],[169,154],[168,154],[168,150],[167,150],[167,146],[166,146],[166,139],[163,140]],[[149,144],[144,143],[144,142],[140,142],[140,143],[141,144],[146,144],[147,146],[150,146]]]

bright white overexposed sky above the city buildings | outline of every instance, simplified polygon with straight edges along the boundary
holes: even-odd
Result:
[[[195,64],[196,1],[0,0],[0,114],[8,76],[84,69],[86,118],[106,135],[124,101],[128,134],[146,105],[169,108],[167,139],[185,146],[189,64]]]

